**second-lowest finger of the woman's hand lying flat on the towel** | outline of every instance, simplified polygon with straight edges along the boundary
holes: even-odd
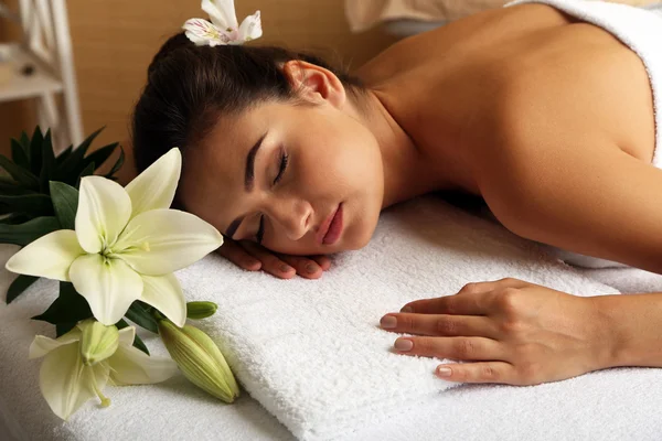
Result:
[[[503,345],[484,337],[401,337],[393,344],[399,354],[452,359],[505,359]]]

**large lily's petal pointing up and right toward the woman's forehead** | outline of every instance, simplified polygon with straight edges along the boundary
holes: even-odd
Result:
[[[170,208],[182,170],[182,154],[170,149],[126,186],[131,198],[131,217],[157,208]]]

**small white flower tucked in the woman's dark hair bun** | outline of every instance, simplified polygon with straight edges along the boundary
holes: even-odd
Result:
[[[263,34],[259,11],[245,18],[239,25],[234,0],[202,0],[202,10],[210,15],[211,23],[204,19],[190,19],[182,26],[189,40],[199,46],[243,44]]]

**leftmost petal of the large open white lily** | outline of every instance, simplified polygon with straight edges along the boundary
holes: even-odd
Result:
[[[76,232],[60,229],[40,237],[13,255],[4,266],[20,275],[70,281],[72,262],[85,250],[78,245]]]

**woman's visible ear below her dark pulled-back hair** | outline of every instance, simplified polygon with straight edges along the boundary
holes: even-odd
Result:
[[[323,100],[338,108],[345,103],[345,88],[331,71],[301,60],[290,60],[282,71],[301,98],[312,103]]]

